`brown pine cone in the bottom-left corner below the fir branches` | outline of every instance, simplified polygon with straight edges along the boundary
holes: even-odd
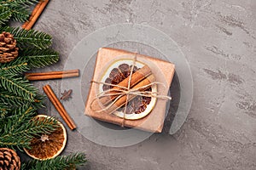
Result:
[[[0,148],[0,170],[20,170],[20,157],[15,150]]]

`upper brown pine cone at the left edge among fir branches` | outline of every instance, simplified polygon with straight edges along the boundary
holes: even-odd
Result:
[[[0,63],[8,63],[18,57],[18,50],[14,36],[3,31],[0,34]]]

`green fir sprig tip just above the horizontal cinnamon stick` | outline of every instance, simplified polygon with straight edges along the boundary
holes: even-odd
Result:
[[[25,57],[28,60],[28,65],[30,67],[36,68],[54,64],[59,60],[59,54],[50,48],[44,50],[26,49],[21,51],[20,56]]]

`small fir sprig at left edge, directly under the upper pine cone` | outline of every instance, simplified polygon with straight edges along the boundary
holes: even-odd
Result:
[[[7,74],[21,74],[29,70],[30,68],[27,64],[27,59],[24,57],[18,57],[9,63],[0,65],[0,72]]]

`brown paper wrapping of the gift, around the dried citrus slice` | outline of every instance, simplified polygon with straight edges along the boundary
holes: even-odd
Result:
[[[102,75],[102,67],[117,59],[117,56],[134,56],[134,53],[114,48],[100,48],[97,54],[96,66],[92,80],[99,80],[99,77]],[[158,92],[161,95],[167,95],[174,75],[175,65],[170,62],[166,62],[165,60],[155,59],[142,54],[137,54],[137,59],[143,59],[145,61],[148,60],[149,62],[154,63],[154,66],[151,65],[151,67],[154,67],[152,68],[154,77],[160,77],[156,82],[164,82],[166,85],[166,87],[158,87]],[[85,104],[84,114],[103,122],[122,125],[122,118],[106,112],[96,112],[90,109],[91,102],[96,98],[96,88],[96,84],[92,83],[90,86],[90,93]],[[154,109],[148,114],[148,116],[138,120],[125,120],[125,127],[136,127],[148,132],[161,133],[166,114],[166,102],[167,100],[165,99],[157,99]]]

